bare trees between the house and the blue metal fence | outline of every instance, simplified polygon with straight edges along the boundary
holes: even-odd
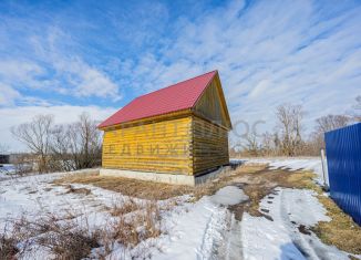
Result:
[[[344,114],[329,114],[316,119],[314,128],[306,134],[302,105],[282,104],[275,111],[274,132],[248,133],[230,145],[230,156],[317,156],[324,148],[324,133],[361,122],[361,95]]]

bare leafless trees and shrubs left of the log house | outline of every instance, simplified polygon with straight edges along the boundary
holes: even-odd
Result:
[[[40,173],[76,170],[101,165],[102,135],[96,122],[83,113],[71,124],[55,124],[52,115],[37,115],[11,128],[32,156],[19,156],[18,164],[33,164]],[[24,162],[25,160],[25,162]]]

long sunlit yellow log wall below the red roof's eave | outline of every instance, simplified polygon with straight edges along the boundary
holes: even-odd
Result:
[[[192,174],[192,117],[105,131],[103,167]]]

